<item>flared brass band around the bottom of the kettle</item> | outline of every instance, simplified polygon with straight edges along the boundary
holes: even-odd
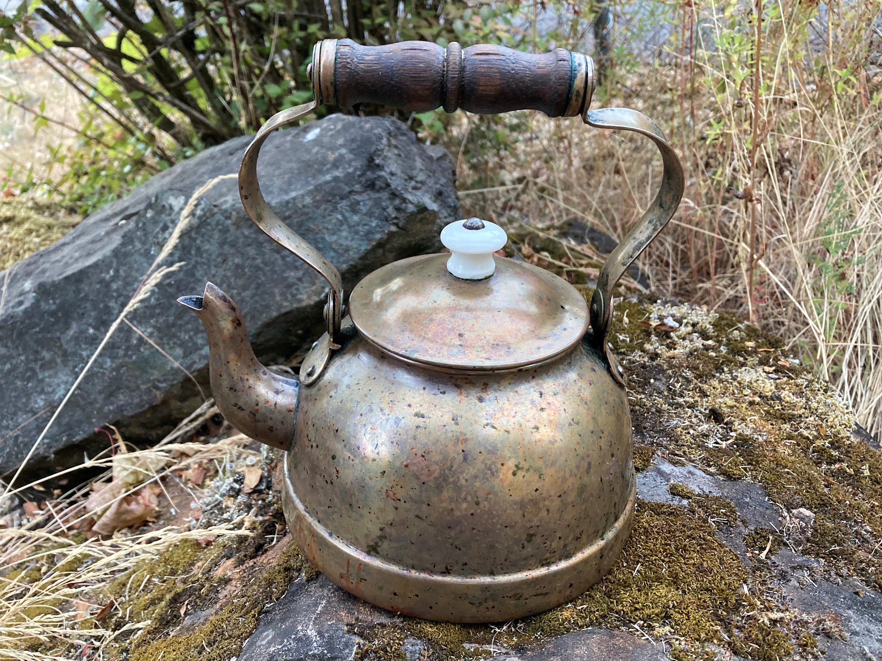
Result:
[[[351,546],[303,508],[283,462],[282,509],[310,563],[355,597],[421,620],[478,624],[544,613],[578,598],[609,572],[631,532],[637,484],[617,521],[579,553],[500,576],[451,576],[403,568]]]

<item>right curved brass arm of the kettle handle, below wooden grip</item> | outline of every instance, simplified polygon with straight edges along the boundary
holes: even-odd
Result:
[[[602,351],[609,361],[613,378],[624,385],[622,368],[606,341],[609,323],[612,322],[612,290],[624,271],[637,259],[662,227],[676,212],[683,197],[683,166],[674,149],[669,145],[662,130],[647,115],[629,108],[601,108],[587,110],[585,123],[597,129],[632,130],[649,137],[662,152],[662,185],[653,203],[631,228],[631,231],[609,254],[597,278],[597,289],[591,299],[591,329],[594,331],[594,346]]]

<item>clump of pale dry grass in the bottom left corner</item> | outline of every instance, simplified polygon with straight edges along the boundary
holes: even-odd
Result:
[[[245,512],[215,525],[206,525],[202,516],[215,505],[223,507],[224,487],[236,473],[250,465],[261,465],[261,453],[248,449],[250,443],[249,438],[239,434],[210,444],[168,444],[161,449],[126,454],[117,451],[113,457],[106,453],[88,462],[86,468],[106,469],[107,476],[112,473],[115,481],[121,467],[129,473],[131,488],[120,492],[115,501],[146,485],[161,485],[165,491],[174,483],[183,484],[184,476],[191,474],[188,471],[212,465],[211,472],[216,474],[211,481],[202,488],[192,483],[188,487],[199,509],[196,516],[183,523],[154,524],[138,532],[127,528],[109,538],[91,535],[93,521],[112,501],[90,507],[90,500],[84,498],[88,489],[80,487],[50,497],[19,527],[0,529],[0,563],[4,567],[0,577],[0,658],[42,661],[70,657],[79,650],[84,656],[88,651],[91,657],[102,657],[118,636],[128,632],[124,636],[128,638],[149,627],[149,621],[126,620],[124,616],[127,608],[142,598],[146,579],[140,586],[126,590],[116,589],[115,582],[186,540],[205,543],[213,539],[217,545],[230,536],[252,534],[251,520]],[[131,478],[133,466],[140,467],[143,475]],[[40,484],[34,482],[22,489],[33,490],[35,486]],[[174,514],[176,502],[172,497],[163,506],[166,516],[169,506]],[[151,589],[152,584],[147,586]],[[105,618],[113,620],[114,626],[105,627]]]

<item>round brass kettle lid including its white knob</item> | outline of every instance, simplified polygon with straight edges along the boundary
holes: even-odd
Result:
[[[585,299],[554,273],[493,255],[505,231],[479,219],[441,233],[451,255],[377,269],[349,297],[358,331],[388,353],[427,366],[501,370],[549,360],[579,342]]]

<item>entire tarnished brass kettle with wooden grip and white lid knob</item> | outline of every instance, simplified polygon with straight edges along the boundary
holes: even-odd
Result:
[[[288,379],[258,363],[220,289],[180,299],[205,323],[221,412],[288,452],[283,505],[296,543],[334,583],[396,613],[540,613],[598,581],[630,530],[631,418],[606,341],[612,290],[676,211],[683,170],[646,116],[588,109],[592,71],[590,58],[559,48],[319,42],[315,100],[265,123],[239,186],[250,219],[327,281],[327,332]],[[269,133],[321,102],[581,116],[651,138],[662,186],[603,266],[590,307],[557,275],[495,256],[502,228],[467,219],[442,232],[449,254],[387,264],[344,308],[340,273],[279,219],[257,179]]]

